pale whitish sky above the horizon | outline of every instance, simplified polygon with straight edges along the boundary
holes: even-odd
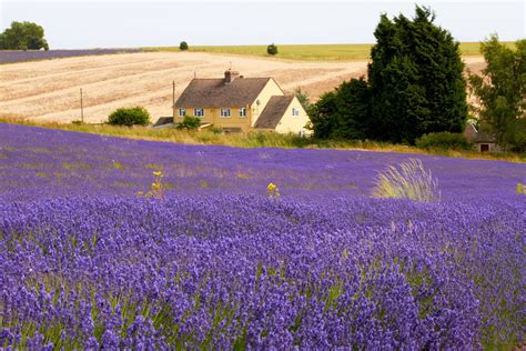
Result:
[[[380,14],[412,17],[414,1],[0,0],[0,31],[11,21],[42,26],[51,49],[205,44],[372,43]],[[524,1],[417,2],[459,41],[498,33],[525,38]]]

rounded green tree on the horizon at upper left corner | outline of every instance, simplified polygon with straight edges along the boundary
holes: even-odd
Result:
[[[49,50],[44,30],[32,22],[11,22],[0,34],[0,50]]]

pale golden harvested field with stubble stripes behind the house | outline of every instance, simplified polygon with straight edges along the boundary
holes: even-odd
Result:
[[[84,120],[105,121],[119,107],[144,106],[156,120],[171,116],[172,81],[175,98],[194,77],[215,78],[232,62],[245,77],[273,77],[285,90],[296,87],[313,100],[343,80],[366,73],[361,61],[285,61],[202,52],[138,52],[12,63],[2,67],[0,118],[70,122],[80,119],[80,88]],[[466,58],[479,69],[482,57]]]

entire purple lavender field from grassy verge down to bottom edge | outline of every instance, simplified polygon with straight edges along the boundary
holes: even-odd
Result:
[[[372,197],[409,158],[441,200]],[[517,347],[518,183],[524,163],[0,123],[0,349]]]

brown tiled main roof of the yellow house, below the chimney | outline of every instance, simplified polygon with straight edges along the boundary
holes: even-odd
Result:
[[[175,108],[232,108],[254,102],[271,78],[193,79],[175,102]]]

